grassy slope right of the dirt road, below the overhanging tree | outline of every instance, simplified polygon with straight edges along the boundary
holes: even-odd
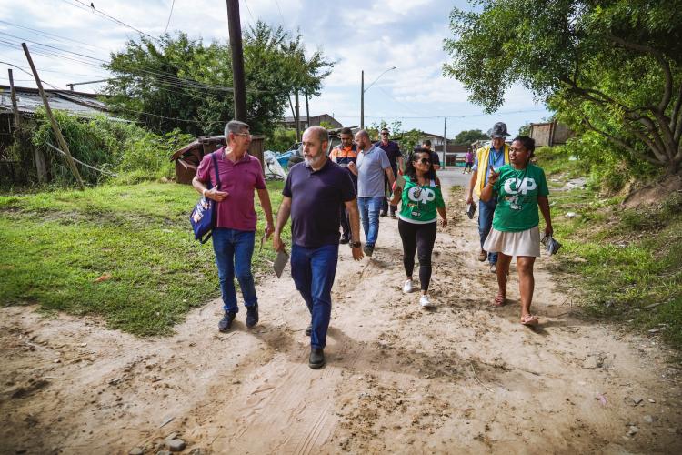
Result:
[[[553,166],[561,169],[560,162],[555,157]],[[548,175],[568,177],[560,170]],[[563,244],[557,268],[574,276],[587,314],[639,331],[658,329],[682,348],[682,194],[624,210],[621,197],[589,189],[550,192],[552,223]],[[568,219],[569,211],[577,217]]]

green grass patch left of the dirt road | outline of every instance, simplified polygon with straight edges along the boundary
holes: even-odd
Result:
[[[268,183],[275,210],[281,187]],[[160,183],[0,196],[0,301],[169,334],[190,308],[219,296],[212,244],[196,242],[189,226],[197,199],[192,187]],[[257,200],[256,211],[260,235]],[[257,245],[254,267],[266,268],[275,252]]]

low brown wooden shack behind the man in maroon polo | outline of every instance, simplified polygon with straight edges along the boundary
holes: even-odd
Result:
[[[263,165],[263,141],[266,136],[251,136],[249,155],[258,158]],[[196,176],[196,169],[205,155],[226,145],[225,136],[201,136],[185,147],[176,150],[171,161],[176,162],[176,182],[190,185]]]

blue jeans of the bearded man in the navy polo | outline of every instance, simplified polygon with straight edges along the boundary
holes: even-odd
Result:
[[[338,244],[318,248],[291,246],[291,277],[312,316],[310,346],[313,348],[326,346],[337,261]]]

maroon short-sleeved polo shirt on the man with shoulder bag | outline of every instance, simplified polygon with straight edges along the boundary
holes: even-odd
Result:
[[[255,231],[257,217],[254,209],[254,189],[266,187],[263,167],[258,158],[249,154],[233,163],[223,158],[224,149],[225,147],[221,147],[214,153],[217,154],[220,190],[226,191],[229,195],[217,204],[216,227]],[[211,185],[216,186],[216,172],[213,169],[211,154],[201,160],[199,168],[196,169],[196,177],[202,183],[210,181]]]

